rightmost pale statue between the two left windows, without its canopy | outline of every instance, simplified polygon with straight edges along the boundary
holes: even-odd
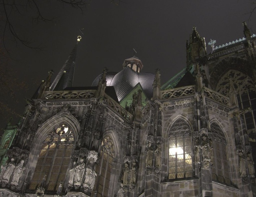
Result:
[[[96,169],[95,160],[94,158],[91,157],[86,167],[86,175],[85,175],[85,180],[83,184],[83,188],[85,191],[86,190],[92,191],[92,189],[94,188],[95,179],[97,176],[95,169]]]

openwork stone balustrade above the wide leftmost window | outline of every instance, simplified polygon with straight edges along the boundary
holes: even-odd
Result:
[[[62,99],[90,99],[96,95],[96,90],[81,91],[47,91],[44,93],[43,100],[62,100]]]

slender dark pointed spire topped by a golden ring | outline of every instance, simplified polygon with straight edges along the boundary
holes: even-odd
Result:
[[[82,34],[82,31],[81,31],[81,34]],[[81,35],[77,36],[77,44],[69,54],[68,59],[60,69],[55,80],[52,82],[52,85],[49,88],[49,90],[56,91],[56,90],[63,90],[66,87],[72,87],[74,71],[75,71],[75,60],[77,56],[77,45],[81,39],[82,39]]]

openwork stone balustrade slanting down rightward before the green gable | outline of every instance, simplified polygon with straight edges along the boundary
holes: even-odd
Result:
[[[105,95],[104,101],[107,102],[107,104],[111,107],[113,111],[121,115],[127,121],[131,122],[133,120],[133,115],[131,115],[128,111],[123,109],[123,107],[120,104],[118,104],[115,100],[113,100],[111,97]]]

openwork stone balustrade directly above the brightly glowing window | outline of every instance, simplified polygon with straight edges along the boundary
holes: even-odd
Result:
[[[168,89],[161,91],[162,99],[172,99],[181,96],[189,96],[195,93],[195,86],[185,86],[180,88]]]

